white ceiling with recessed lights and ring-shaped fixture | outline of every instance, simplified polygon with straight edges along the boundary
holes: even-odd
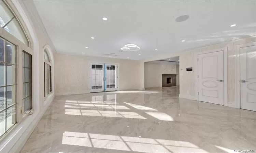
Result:
[[[34,0],[34,3],[59,54],[115,53],[117,56],[113,58],[140,60],[256,34],[256,1]],[[181,15],[189,15],[189,19],[175,22]],[[103,17],[108,20],[102,20]],[[231,24],[237,26],[230,27]],[[138,45],[140,51],[119,52],[128,43]]]

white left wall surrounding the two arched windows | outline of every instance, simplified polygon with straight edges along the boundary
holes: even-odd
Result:
[[[48,46],[53,63],[56,51],[33,1],[12,0],[7,2],[23,25],[33,50],[33,114],[22,120],[0,143],[0,152],[17,153],[22,149],[54,98],[53,92],[51,97],[46,98],[47,103],[44,101],[43,47]],[[52,81],[54,83],[54,80]]]

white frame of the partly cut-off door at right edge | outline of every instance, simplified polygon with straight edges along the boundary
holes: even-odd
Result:
[[[236,108],[241,108],[241,98],[240,98],[240,49],[244,47],[250,47],[250,46],[255,46],[256,42],[253,43],[248,43],[248,44],[241,44],[237,45],[236,49],[236,96],[235,96],[235,101],[236,101]]]

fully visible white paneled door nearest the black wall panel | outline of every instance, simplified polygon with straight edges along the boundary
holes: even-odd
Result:
[[[223,51],[198,55],[198,100],[224,105]]]

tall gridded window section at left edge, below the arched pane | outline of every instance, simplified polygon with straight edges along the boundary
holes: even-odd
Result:
[[[0,38],[0,136],[17,123],[17,46]]]

